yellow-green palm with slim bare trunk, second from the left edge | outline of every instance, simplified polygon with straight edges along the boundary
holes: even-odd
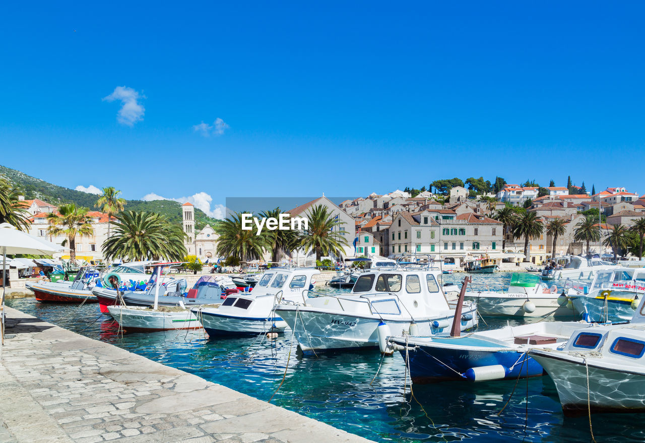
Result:
[[[61,204],[56,212],[47,214],[47,221],[50,226],[47,233],[55,237],[64,235],[66,239],[61,243],[69,245],[70,260],[76,260],[76,237],[94,235],[92,229],[92,217],[88,214],[88,208],[77,207],[74,203]]]

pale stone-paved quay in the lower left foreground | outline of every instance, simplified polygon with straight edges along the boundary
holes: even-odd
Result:
[[[6,308],[0,443],[364,443],[295,412]]]

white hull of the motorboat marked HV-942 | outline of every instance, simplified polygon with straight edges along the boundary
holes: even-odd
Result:
[[[331,349],[377,348],[379,335],[377,328],[384,321],[391,335],[401,335],[410,331],[410,319],[396,319],[383,316],[363,317],[361,315],[342,314],[340,312],[324,312],[310,310],[306,306],[283,306],[277,308],[278,313],[289,325],[303,351],[322,351]],[[462,315],[470,314],[470,320],[462,320],[461,329],[473,328],[477,322],[475,310],[465,309]],[[446,326],[433,328],[434,320],[443,320]],[[416,319],[417,331],[420,335],[433,335],[450,331],[452,316],[433,319]]]

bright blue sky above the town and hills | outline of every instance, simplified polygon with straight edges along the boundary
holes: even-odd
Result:
[[[645,193],[644,12],[14,2],[0,15],[0,164],[213,208],[481,175]]]

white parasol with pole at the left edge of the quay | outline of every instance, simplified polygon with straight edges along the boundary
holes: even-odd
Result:
[[[41,240],[34,235],[19,231],[8,223],[0,224],[0,249],[3,254],[2,266],[2,302],[0,304],[0,336],[2,344],[5,344],[5,273],[7,254],[35,254],[50,255],[51,253],[63,250],[62,246],[55,243]]]

